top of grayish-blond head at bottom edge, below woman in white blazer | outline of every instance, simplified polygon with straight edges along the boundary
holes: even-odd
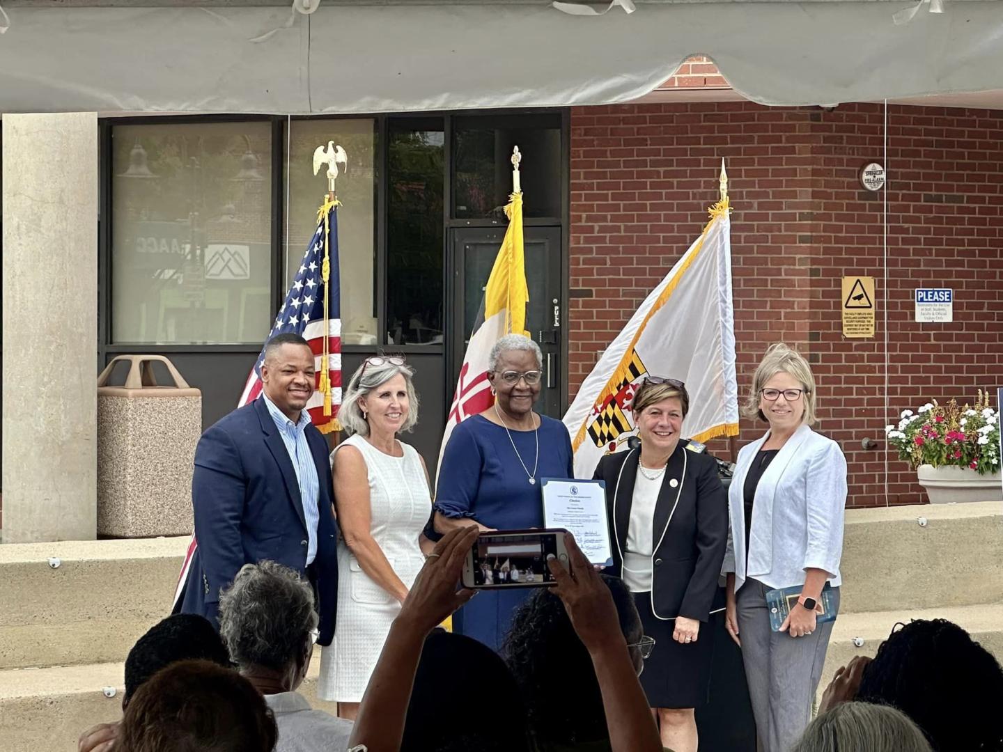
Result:
[[[790,752],[931,752],[905,713],[885,705],[837,705],[808,724]]]

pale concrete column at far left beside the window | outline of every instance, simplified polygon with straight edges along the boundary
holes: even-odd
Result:
[[[97,115],[3,116],[3,541],[97,520]]]

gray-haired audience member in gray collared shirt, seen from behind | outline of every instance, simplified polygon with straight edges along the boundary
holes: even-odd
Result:
[[[240,673],[275,714],[276,752],[348,746],[351,721],[311,709],[296,691],[310,666],[317,622],[310,584],[275,561],[245,565],[220,597],[220,635]]]

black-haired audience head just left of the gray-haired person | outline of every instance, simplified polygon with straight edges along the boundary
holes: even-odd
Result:
[[[197,614],[175,614],[150,627],[125,657],[122,710],[139,686],[160,669],[195,659],[230,666],[227,647],[209,620]]]

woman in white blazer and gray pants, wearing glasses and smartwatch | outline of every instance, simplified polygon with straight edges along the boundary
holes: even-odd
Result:
[[[744,413],[769,430],[738,452],[728,489],[725,626],[742,649],[760,749],[787,752],[810,720],[832,632],[832,622],[815,622],[826,583],[839,610],[847,460],[809,427],[814,377],[786,345],[766,351]],[[772,632],[765,595],[791,587],[797,605]]]

